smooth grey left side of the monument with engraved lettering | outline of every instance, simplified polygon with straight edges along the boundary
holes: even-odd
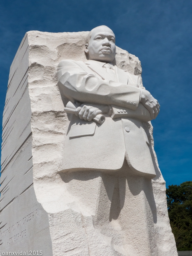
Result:
[[[28,49],[26,35],[10,68],[3,115],[0,250],[42,250],[51,256],[48,215],[33,187]]]

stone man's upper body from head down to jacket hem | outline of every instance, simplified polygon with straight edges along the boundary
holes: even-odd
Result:
[[[76,106],[66,135],[63,172],[118,172],[123,164],[132,173],[156,176],[143,122],[155,119],[159,103],[139,76],[114,65],[113,31],[93,28],[85,44],[87,61],[62,60],[58,66],[61,95]],[[105,116],[99,124],[98,114]]]

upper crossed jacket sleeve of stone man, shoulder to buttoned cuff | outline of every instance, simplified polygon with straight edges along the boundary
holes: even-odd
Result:
[[[103,80],[86,72],[74,60],[62,60],[58,66],[60,93],[70,100],[86,103],[116,105],[135,110],[140,101],[140,88]]]

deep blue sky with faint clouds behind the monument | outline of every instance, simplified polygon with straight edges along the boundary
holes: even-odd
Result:
[[[89,31],[106,25],[139,57],[143,84],[159,101],[152,122],[166,186],[192,180],[192,1],[1,0],[0,124],[9,68],[29,30]]]

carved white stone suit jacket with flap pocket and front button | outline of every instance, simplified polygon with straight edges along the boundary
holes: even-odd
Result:
[[[116,171],[126,158],[135,173],[153,178],[156,174],[142,124],[150,120],[150,115],[139,103],[140,88],[144,88],[141,79],[114,66],[116,81],[112,81],[104,65],[94,60],[59,63],[57,76],[61,95],[73,102],[105,104],[113,108],[113,118],[105,114],[103,124],[82,121],[71,115],[63,172]]]

